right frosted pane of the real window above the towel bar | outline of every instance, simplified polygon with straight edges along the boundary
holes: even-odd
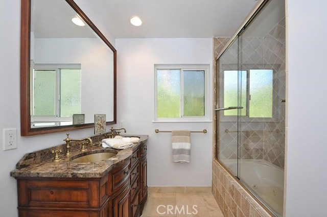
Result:
[[[204,70],[184,71],[184,116],[204,116]]]

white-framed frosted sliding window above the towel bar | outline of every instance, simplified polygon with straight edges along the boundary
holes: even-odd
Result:
[[[207,71],[207,65],[155,65],[155,120],[207,118]]]

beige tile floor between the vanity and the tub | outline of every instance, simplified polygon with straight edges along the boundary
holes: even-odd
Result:
[[[141,217],[161,217],[161,216],[224,217],[222,211],[220,210],[211,192],[210,193],[149,192],[148,200],[145,204],[143,214]]]

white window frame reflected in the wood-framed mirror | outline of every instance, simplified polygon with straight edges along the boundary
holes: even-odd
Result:
[[[81,69],[81,64],[33,64],[31,71],[31,122],[73,122],[73,117],[59,117],[60,112],[60,69]],[[56,71],[56,102],[55,115],[33,115],[34,114],[34,70]]]

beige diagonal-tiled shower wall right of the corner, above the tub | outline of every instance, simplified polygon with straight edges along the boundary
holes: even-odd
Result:
[[[285,161],[285,100],[286,96],[286,38],[285,18],[264,37],[265,68],[273,68],[273,117],[276,122],[265,123],[263,159],[284,168]]]

